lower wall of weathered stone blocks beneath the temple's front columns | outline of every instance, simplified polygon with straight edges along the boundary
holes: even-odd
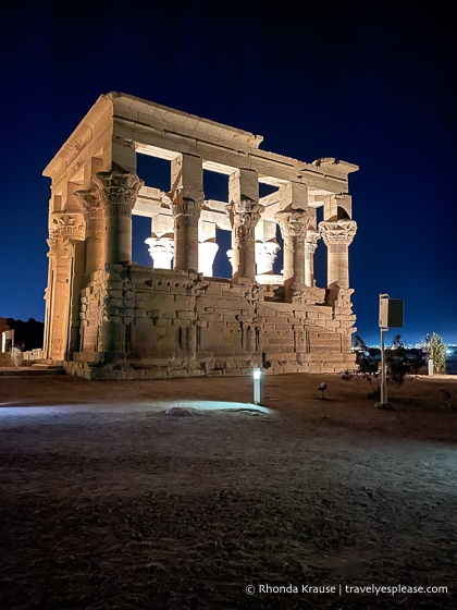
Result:
[[[251,281],[107,265],[82,291],[81,352],[65,366],[90,379],[341,371],[354,363],[351,291],[333,306],[309,292],[275,303]]]

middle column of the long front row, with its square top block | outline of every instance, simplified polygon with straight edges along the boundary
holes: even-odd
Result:
[[[228,180],[226,207],[232,224],[233,277],[256,278],[255,229],[264,207],[259,204],[257,172],[237,170]]]

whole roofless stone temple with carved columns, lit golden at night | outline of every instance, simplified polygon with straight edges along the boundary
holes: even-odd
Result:
[[[246,375],[257,366],[330,373],[354,362],[348,174],[358,168],[306,163],[261,150],[261,142],[129,95],[98,99],[44,172],[52,180],[48,362],[88,379]],[[169,162],[168,192],[145,184],[138,155]],[[227,176],[227,200],[205,198],[203,170]],[[259,183],[272,192],[259,197]],[[132,263],[133,215],[151,219],[149,267]],[[217,230],[232,235],[228,279],[213,277]],[[282,274],[273,269],[279,231]],[[313,278],[320,237],[324,288]]]

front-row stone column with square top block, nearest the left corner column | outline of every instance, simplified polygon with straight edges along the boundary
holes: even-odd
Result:
[[[198,270],[198,219],[203,203],[201,158],[183,154],[172,163],[172,212],[174,217],[174,268]]]

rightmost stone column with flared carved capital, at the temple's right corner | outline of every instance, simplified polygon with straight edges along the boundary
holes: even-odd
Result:
[[[355,220],[323,220],[319,231],[328,247],[328,286],[349,288],[348,248],[357,231]]]

